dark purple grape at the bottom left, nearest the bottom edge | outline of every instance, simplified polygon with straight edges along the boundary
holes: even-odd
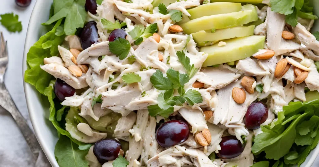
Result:
[[[121,149],[122,146],[119,141],[113,139],[102,139],[94,144],[93,153],[100,164],[104,164],[108,161],[115,160]]]

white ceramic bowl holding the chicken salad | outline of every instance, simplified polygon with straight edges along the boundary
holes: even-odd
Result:
[[[23,54],[23,74],[27,69],[26,65],[26,54],[33,43],[37,42],[43,34],[46,33],[45,27],[41,25],[48,20],[49,11],[53,0],[37,0],[33,8],[28,31],[26,33],[26,42]],[[314,7],[317,10],[315,15],[319,16],[319,1],[313,0]],[[316,22],[312,29],[319,31],[319,21]],[[51,122],[48,120],[49,117],[49,103],[47,97],[40,95],[35,87],[24,82],[24,90],[26,94],[26,103],[29,110],[30,119],[33,125],[35,135],[50,163],[53,167],[58,167],[54,156],[54,147],[58,140],[57,132]],[[315,158],[319,154],[319,145],[313,149],[308,155],[306,161],[301,167],[311,167],[314,163]]]

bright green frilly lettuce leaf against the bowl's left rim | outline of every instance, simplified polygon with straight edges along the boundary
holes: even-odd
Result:
[[[59,51],[57,46],[64,41],[65,35],[56,36],[56,29],[61,24],[59,20],[51,31],[40,37],[39,41],[29,49],[26,56],[28,69],[24,74],[24,80],[35,86],[35,88],[44,95],[44,89],[49,85],[52,76],[43,71],[40,65],[43,65],[45,57],[57,56]]]

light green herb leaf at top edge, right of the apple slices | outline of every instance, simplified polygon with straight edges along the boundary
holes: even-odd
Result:
[[[270,0],[271,10],[280,14],[289,15],[293,13],[295,0]]]

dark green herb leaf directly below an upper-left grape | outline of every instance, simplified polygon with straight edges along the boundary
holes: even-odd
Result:
[[[130,52],[131,45],[130,42],[123,38],[117,38],[113,42],[109,42],[109,49],[112,53],[119,57],[120,60],[123,60],[127,57]]]

